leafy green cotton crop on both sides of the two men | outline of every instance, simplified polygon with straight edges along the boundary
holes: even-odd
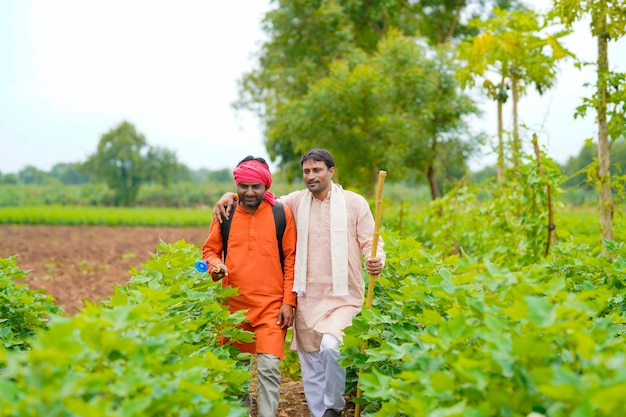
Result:
[[[626,415],[623,219],[601,242],[594,209],[558,203],[561,180],[528,164],[427,207],[385,200],[387,264],[341,355],[363,415]],[[163,244],[71,318],[14,287],[23,272],[4,260],[0,415],[245,415],[250,374],[218,341],[247,337],[234,328],[243,316],[190,267],[198,256]]]

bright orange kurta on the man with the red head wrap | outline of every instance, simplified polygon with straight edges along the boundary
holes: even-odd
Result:
[[[236,205],[228,235],[228,285],[239,295],[228,299],[231,312],[247,310],[248,323],[242,327],[255,333],[255,342],[236,346],[242,352],[270,353],[283,359],[286,329],[277,324],[283,304],[296,305],[292,292],[296,257],[296,225],[285,206],[287,220],[283,235],[284,273],[280,264],[272,206],[265,200],[254,214]],[[222,262],[220,224],[212,222],[209,237],[202,246],[202,258],[212,264]]]

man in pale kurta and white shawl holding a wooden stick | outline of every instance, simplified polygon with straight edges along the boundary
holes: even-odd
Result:
[[[281,197],[298,223],[294,280],[298,306],[291,349],[298,351],[311,416],[334,417],[345,407],[346,371],[337,360],[343,329],[352,324],[363,305],[363,257],[368,273],[378,275],[385,254],[382,239],[378,253],[371,253],[374,217],[368,202],[332,182],[334,160],[330,153],[311,150],[302,157],[301,164],[307,189]],[[333,219],[341,216],[345,216],[343,223],[334,226]],[[347,267],[345,282],[337,277],[342,266],[336,264],[342,261]]]

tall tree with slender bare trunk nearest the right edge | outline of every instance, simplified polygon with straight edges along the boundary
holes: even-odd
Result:
[[[583,106],[577,110],[577,114],[584,115],[588,107],[594,108],[597,112],[600,228],[603,241],[613,240],[614,207],[611,192],[610,140],[617,140],[623,134],[623,128],[620,134],[620,129],[613,128],[612,126],[615,125],[611,126],[611,121],[607,122],[607,120],[609,114],[612,113],[612,118],[623,122],[626,84],[623,74],[615,74],[609,70],[608,43],[609,40],[616,41],[626,34],[626,2],[624,0],[553,0],[553,6],[552,15],[568,27],[583,18],[589,18],[591,34],[596,37],[598,47],[596,93],[592,98],[585,100]],[[611,89],[621,94],[611,96]]]

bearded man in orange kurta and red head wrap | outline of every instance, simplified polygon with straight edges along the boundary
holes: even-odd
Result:
[[[254,332],[252,343],[236,344],[242,352],[256,355],[258,415],[276,415],[280,396],[280,360],[284,358],[287,328],[293,325],[296,294],[293,289],[296,254],[296,226],[285,207],[286,227],[282,238],[284,267],[281,266],[272,206],[276,202],[269,188],[272,177],[262,158],[242,160],[233,171],[238,204],[228,235],[227,257],[222,261],[220,223],[211,223],[202,257],[219,268],[214,278],[237,288],[239,295],[228,299],[230,311],[245,310],[245,330]]]

